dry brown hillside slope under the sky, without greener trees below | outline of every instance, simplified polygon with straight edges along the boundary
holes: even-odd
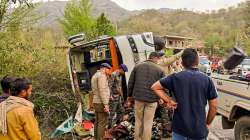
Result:
[[[200,38],[211,31],[226,35],[244,26],[242,8],[221,9],[214,13],[185,10],[147,10],[119,23],[119,33],[153,31]]]

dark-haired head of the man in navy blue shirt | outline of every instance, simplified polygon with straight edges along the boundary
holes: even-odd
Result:
[[[184,68],[197,67],[199,64],[198,52],[195,49],[187,48],[184,50],[181,60]]]

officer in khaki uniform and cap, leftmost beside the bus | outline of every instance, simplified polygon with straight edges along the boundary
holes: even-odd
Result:
[[[91,78],[91,87],[93,91],[93,103],[95,109],[95,140],[102,140],[106,127],[108,126],[109,117],[109,98],[110,89],[108,78],[111,74],[111,66],[108,63],[102,63],[98,70]]]

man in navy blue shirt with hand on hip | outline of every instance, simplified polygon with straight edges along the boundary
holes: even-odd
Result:
[[[197,51],[185,49],[182,54],[185,70],[162,78],[152,86],[166,106],[174,109],[173,140],[205,140],[217,112],[217,91],[212,80],[198,71],[198,64]],[[174,99],[167,96],[164,89],[173,93]]]

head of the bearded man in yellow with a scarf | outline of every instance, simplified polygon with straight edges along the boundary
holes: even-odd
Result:
[[[32,92],[32,83],[27,78],[17,78],[12,82],[11,95],[27,99]]]

